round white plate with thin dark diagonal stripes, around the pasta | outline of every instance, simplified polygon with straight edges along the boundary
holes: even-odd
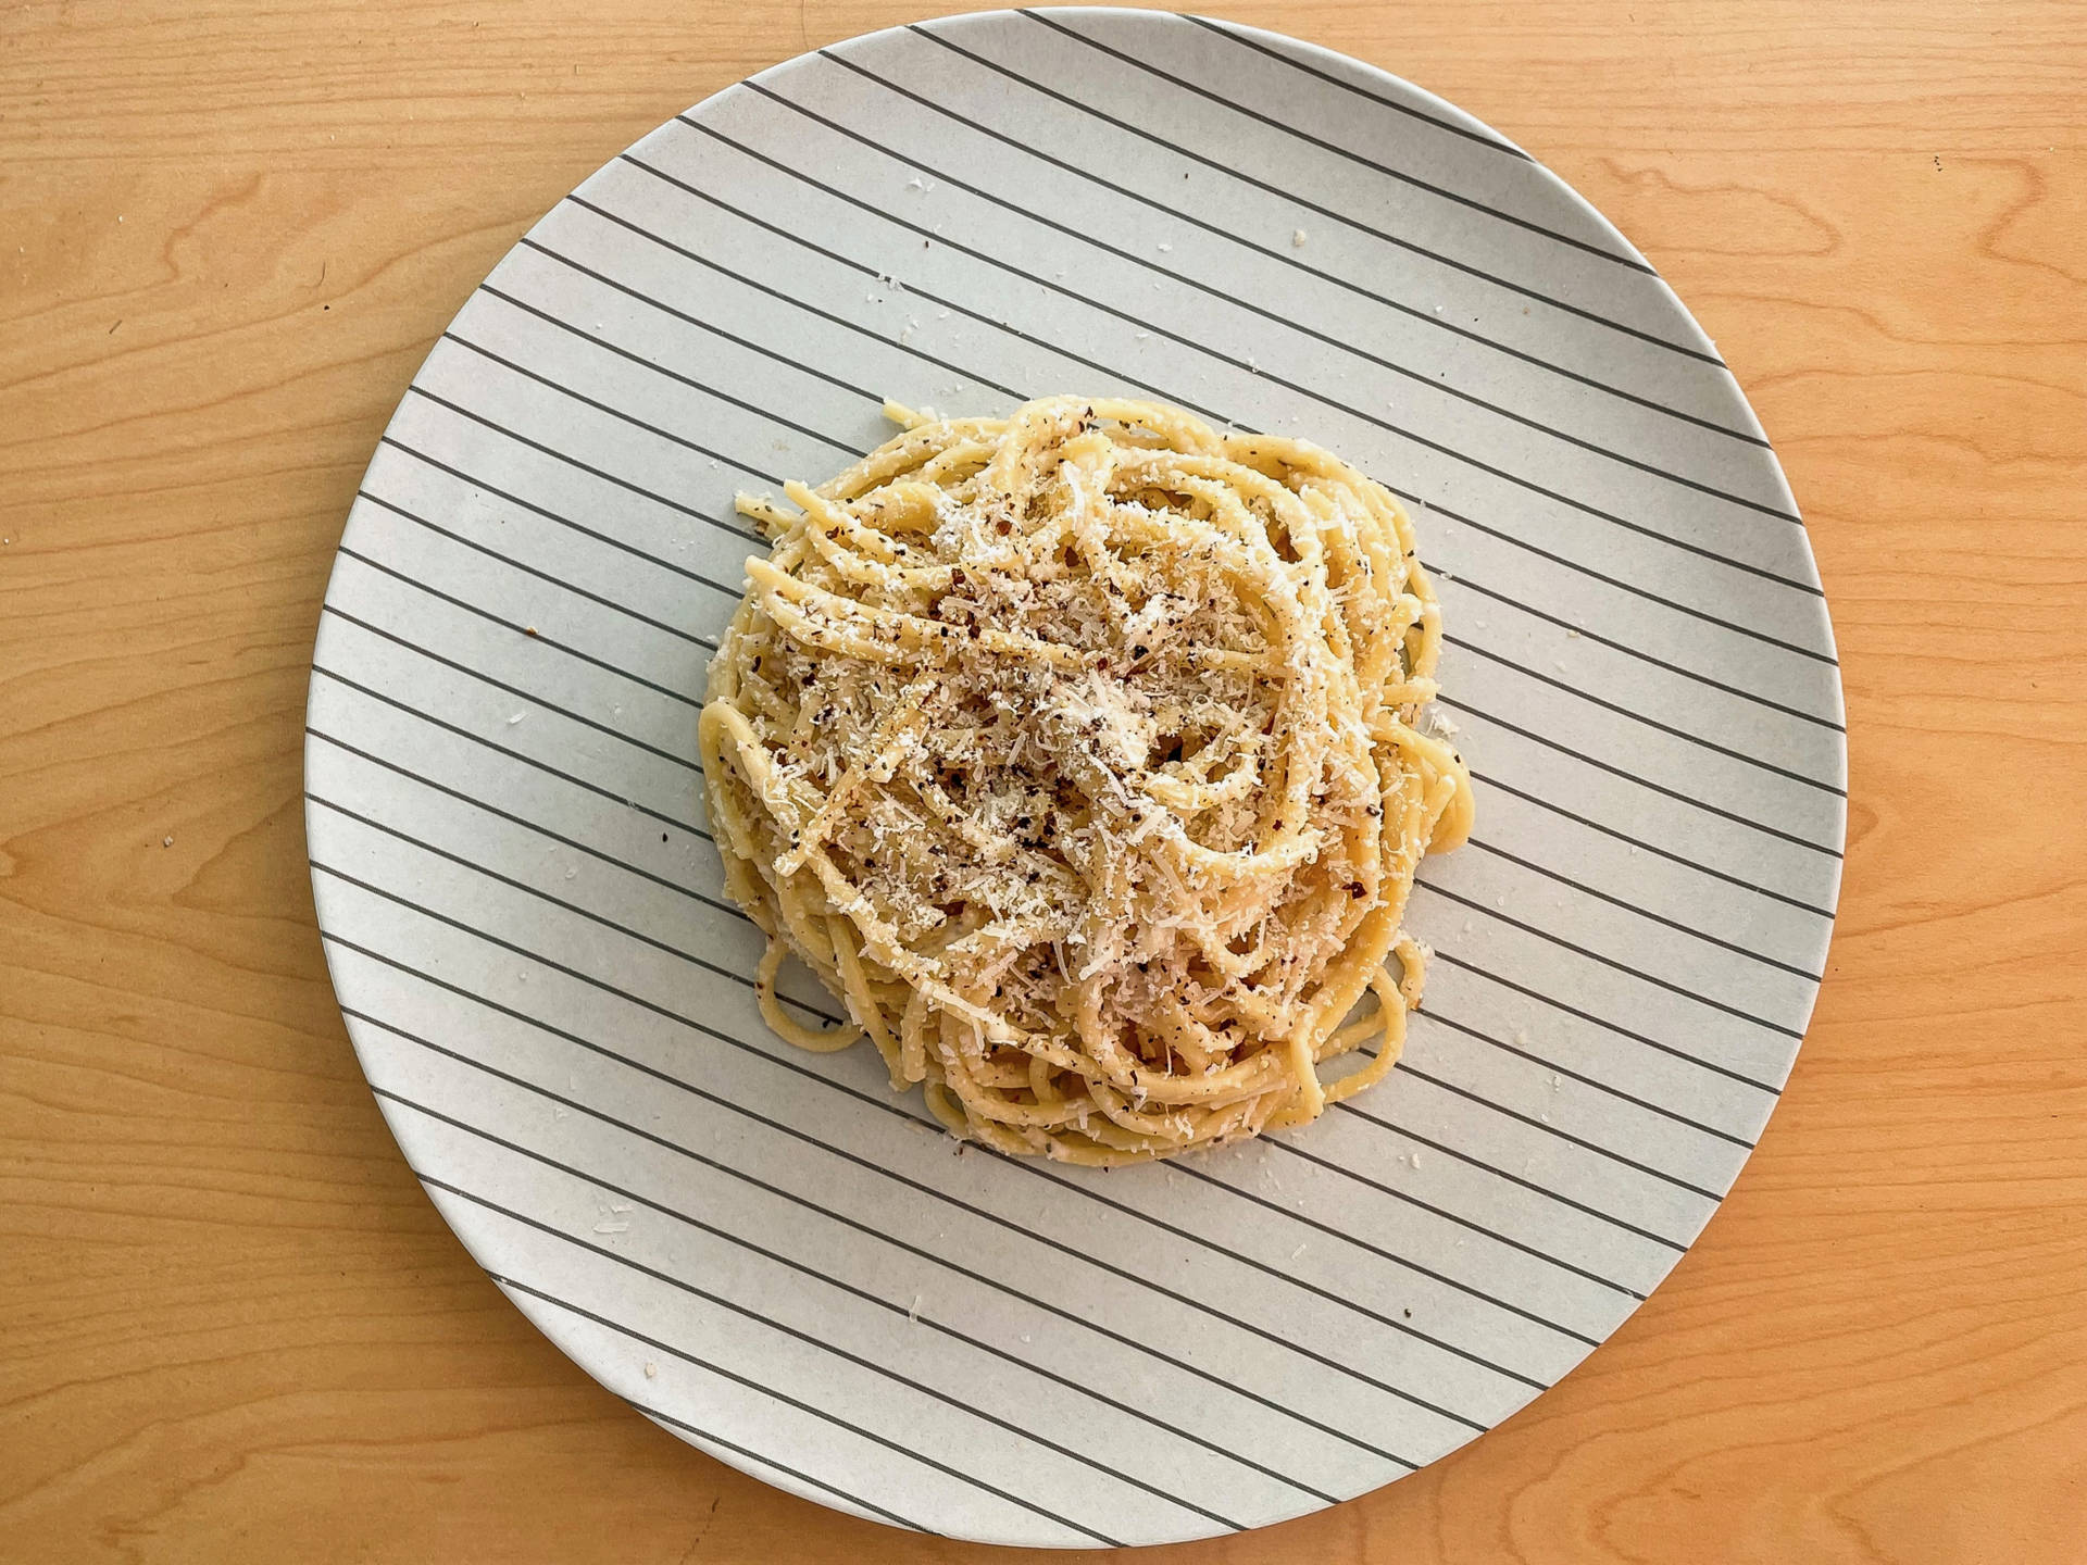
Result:
[[[735,488],[1060,390],[1417,501],[1480,787],[1398,1070],[1110,1175],[768,1035],[695,749]],[[305,776],[357,1054],[507,1296],[722,1461],[1021,1544],[1294,1517],[1580,1363],[1776,1102],[1845,828],[1803,524],[1653,269],[1438,98],[1137,10],[806,54],[551,211],[369,463]]]

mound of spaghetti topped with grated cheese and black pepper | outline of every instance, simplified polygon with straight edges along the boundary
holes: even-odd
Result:
[[[1413,872],[1471,824],[1419,726],[1442,624],[1398,501],[1158,403],[887,413],[831,482],[739,499],[772,549],[699,741],[768,1025],[868,1037],[960,1137],[1102,1166],[1382,1079]],[[847,1025],[783,1010],[789,958]]]

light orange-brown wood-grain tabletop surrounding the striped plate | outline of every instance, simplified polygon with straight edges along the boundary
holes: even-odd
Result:
[[[349,497],[470,288],[912,15],[0,8],[0,1559],[1000,1559],[699,1456],[499,1298],[355,1070],[298,801]],[[1227,15],[1482,115],[1690,303],[1812,522],[1853,810],[1797,1075],[1651,1304],[1457,1456],[1152,1557],[2087,1557],[2087,10]]]

